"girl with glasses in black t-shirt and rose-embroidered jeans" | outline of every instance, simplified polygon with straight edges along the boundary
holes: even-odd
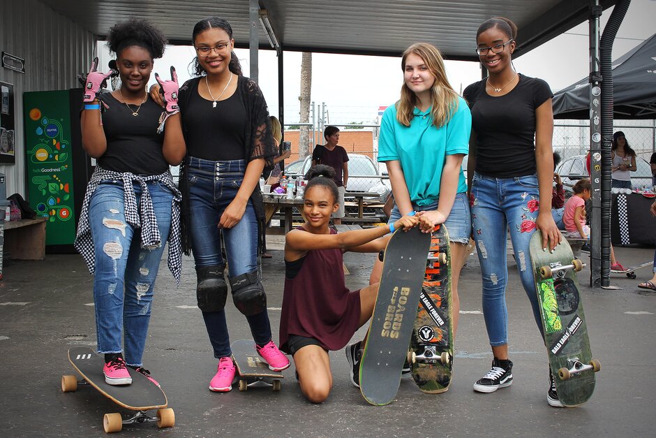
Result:
[[[512,384],[505,305],[508,228],[519,276],[540,330],[530,237],[535,229],[542,231],[545,251],[560,243],[551,216],[551,89],[543,80],[514,71],[516,29],[502,17],[479,27],[476,52],[489,77],[470,85],[463,94],[472,110],[470,206],[483,277],[483,313],[494,355],[490,372],[474,384],[483,393]],[[551,406],[562,406],[553,380],[547,400]]]

